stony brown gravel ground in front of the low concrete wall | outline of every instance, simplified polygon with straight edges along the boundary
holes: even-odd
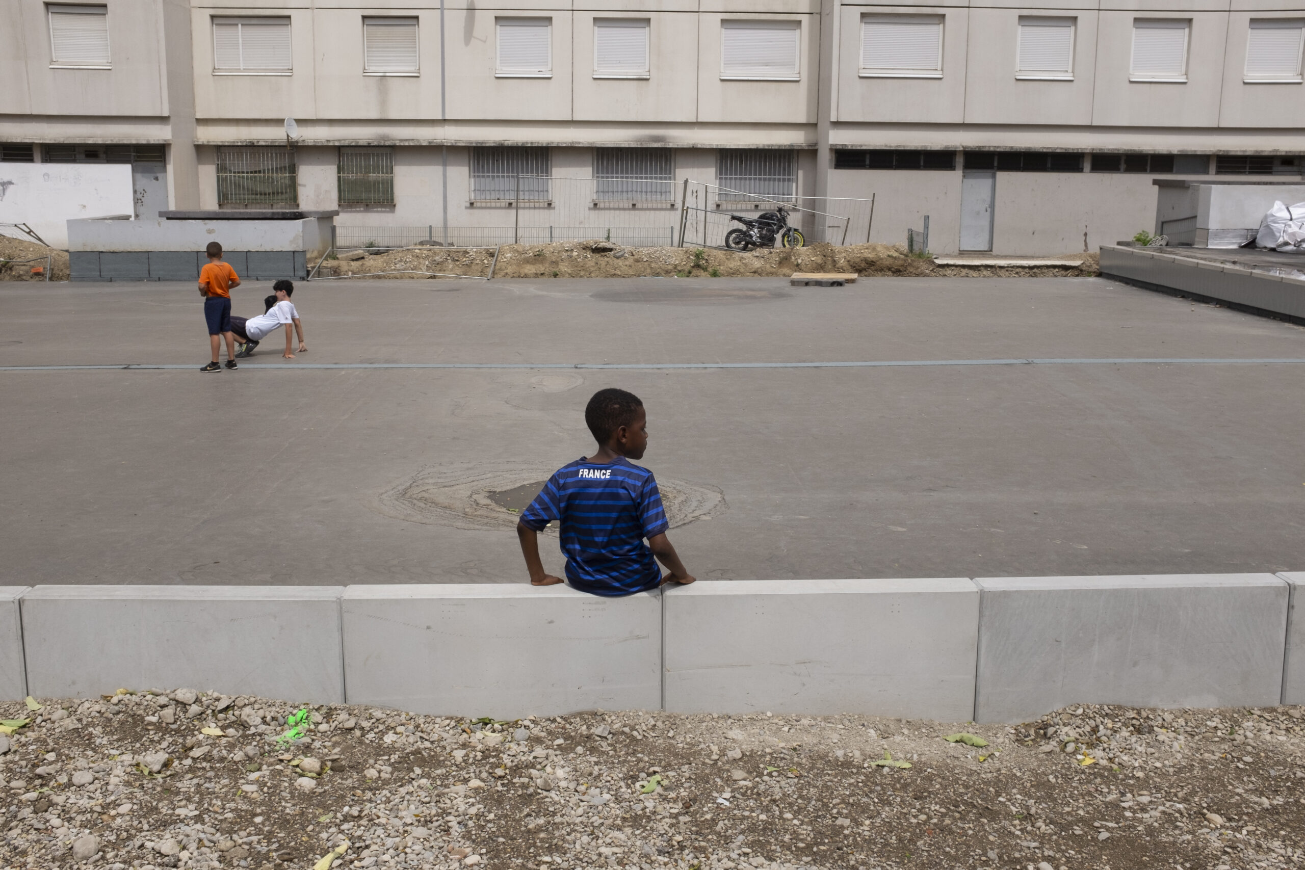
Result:
[[[1301,708],[1084,706],[1010,728],[312,706],[311,734],[278,743],[296,708],[260,698],[34,703],[0,704],[31,720],[0,737],[4,867],[307,869],[333,849],[381,870],[1305,862]]]

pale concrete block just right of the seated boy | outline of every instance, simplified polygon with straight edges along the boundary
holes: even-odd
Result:
[[[666,708],[968,721],[964,578],[701,582],[666,595]]]

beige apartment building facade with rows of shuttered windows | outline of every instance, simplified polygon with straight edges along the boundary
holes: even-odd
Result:
[[[673,241],[688,179],[1054,254],[1152,230],[1155,179],[1305,171],[1301,0],[0,0],[0,175],[130,162],[145,213],[495,240],[529,202],[560,236],[625,209]]]

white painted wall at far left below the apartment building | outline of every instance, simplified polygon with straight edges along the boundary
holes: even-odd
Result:
[[[128,163],[0,163],[0,223],[26,223],[55,248],[67,222],[134,214]]]

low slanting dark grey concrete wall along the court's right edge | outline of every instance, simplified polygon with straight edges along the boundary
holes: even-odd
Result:
[[[1249,305],[1275,314],[1305,317],[1305,282],[1267,271],[1251,271],[1146,248],[1101,245],[1101,274]]]

